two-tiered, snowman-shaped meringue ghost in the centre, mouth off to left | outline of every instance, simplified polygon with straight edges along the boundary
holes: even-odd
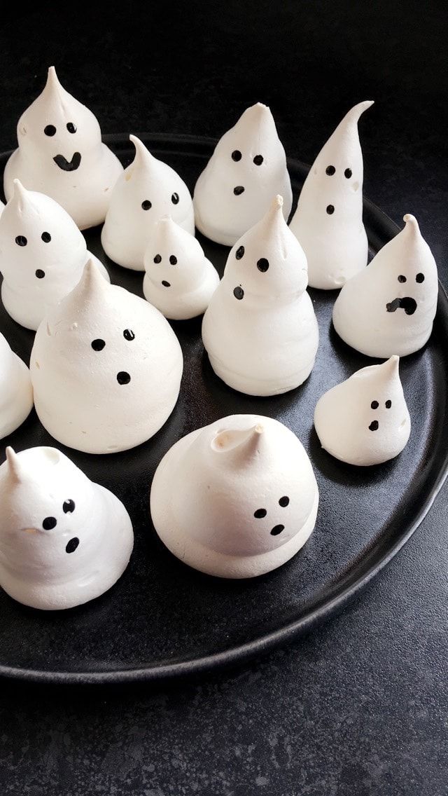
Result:
[[[271,396],[310,376],[318,330],[306,284],[306,256],[278,196],[232,248],[205,312],[205,349],[226,384]]]

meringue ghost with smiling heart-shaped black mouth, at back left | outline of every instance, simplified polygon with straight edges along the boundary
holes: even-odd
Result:
[[[101,224],[111,189],[123,166],[101,142],[99,123],[85,105],[60,85],[50,66],[44,91],[21,115],[18,149],[6,163],[6,199],[14,178],[47,193],[80,229]]]

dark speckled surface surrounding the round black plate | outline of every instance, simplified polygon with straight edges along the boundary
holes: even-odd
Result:
[[[0,150],[52,62],[105,133],[216,136],[262,100],[286,150],[308,162],[342,113],[372,98],[365,192],[395,221],[415,213],[446,263],[442,2],[42,9],[3,17]],[[447,525],[445,487],[349,609],[242,669],[158,690],[4,681],[2,793],[444,796]]]

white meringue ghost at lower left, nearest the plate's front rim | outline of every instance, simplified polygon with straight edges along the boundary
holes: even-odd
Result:
[[[0,467],[0,586],[53,611],[88,603],[123,575],[131,519],[118,497],[52,447],[6,449]]]

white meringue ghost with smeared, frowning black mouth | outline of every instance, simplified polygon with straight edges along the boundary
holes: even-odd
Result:
[[[437,266],[409,213],[405,226],[342,288],[333,307],[337,334],[368,357],[405,357],[430,338]]]

